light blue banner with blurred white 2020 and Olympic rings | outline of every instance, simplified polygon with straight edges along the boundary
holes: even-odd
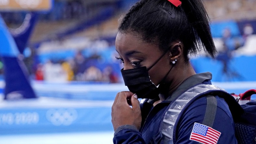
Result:
[[[113,130],[111,107],[0,110],[0,135]]]

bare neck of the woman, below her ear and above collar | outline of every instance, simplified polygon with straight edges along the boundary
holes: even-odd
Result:
[[[173,69],[174,70],[174,69]],[[172,93],[190,76],[195,75],[196,72],[190,64],[186,66],[176,66],[175,72],[171,72],[168,76],[170,83],[163,88],[159,97],[160,101],[164,101],[167,97],[172,95]]]

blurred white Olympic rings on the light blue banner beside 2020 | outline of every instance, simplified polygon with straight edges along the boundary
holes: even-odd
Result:
[[[46,118],[55,126],[69,126],[77,119],[75,109],[49,109],[46,112]]]

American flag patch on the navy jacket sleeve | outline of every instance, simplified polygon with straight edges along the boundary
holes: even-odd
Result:
[[[221,132],[202,124],[195,123],[190,135],[190,140],[203,144],[217,144]]]

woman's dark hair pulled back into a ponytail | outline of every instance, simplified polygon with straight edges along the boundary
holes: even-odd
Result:
[[[145,42],[158,44],[164,50],[175,40],[184,44],[184,57],[204,49],[212,58],[214,46],[209,17],[201,0],[181,0],[174,6],[168,0],[141,0],[131,7],[118,28],[133,32]]]

